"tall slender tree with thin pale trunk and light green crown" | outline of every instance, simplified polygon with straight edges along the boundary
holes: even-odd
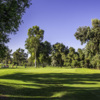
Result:
[[[25,47],[28,52],[35,56],[35,67],[37,60],[37,50],[43,40],[44,30],[40,29],[38,26],[33,26],[28,30],[28,38],[25,41]]]

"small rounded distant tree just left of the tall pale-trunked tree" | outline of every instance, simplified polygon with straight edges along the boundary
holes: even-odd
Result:
[[[23,65],[27,61],[28,54],[24,52],[24,49],[17,49],[13,53],[13,62],[17,65]]]

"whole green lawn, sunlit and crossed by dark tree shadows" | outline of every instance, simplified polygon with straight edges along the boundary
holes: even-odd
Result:
[[[0,69],[0,100],[100,100],[100,70]]]

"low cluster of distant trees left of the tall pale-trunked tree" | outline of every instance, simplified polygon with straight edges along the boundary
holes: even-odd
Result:
[[[12,50],[9,48],[6,49],[5,56],[0,58],[0,62],[8,65],[16,65],[16,66],[23,66],[27,63],[28,54],[25,53],[24,49],[17,49],[15,52],[12,53]]]

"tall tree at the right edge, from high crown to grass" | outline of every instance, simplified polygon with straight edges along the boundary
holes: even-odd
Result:
[[[85,66],[93,65],[93,58],[100,54],[100,20],[93,19],[92,27],[79,27],[75,33],[76,39],[81,41],[81,44],[87,43],[85,47]],[[97,65],[97,64],[96,64]]]

